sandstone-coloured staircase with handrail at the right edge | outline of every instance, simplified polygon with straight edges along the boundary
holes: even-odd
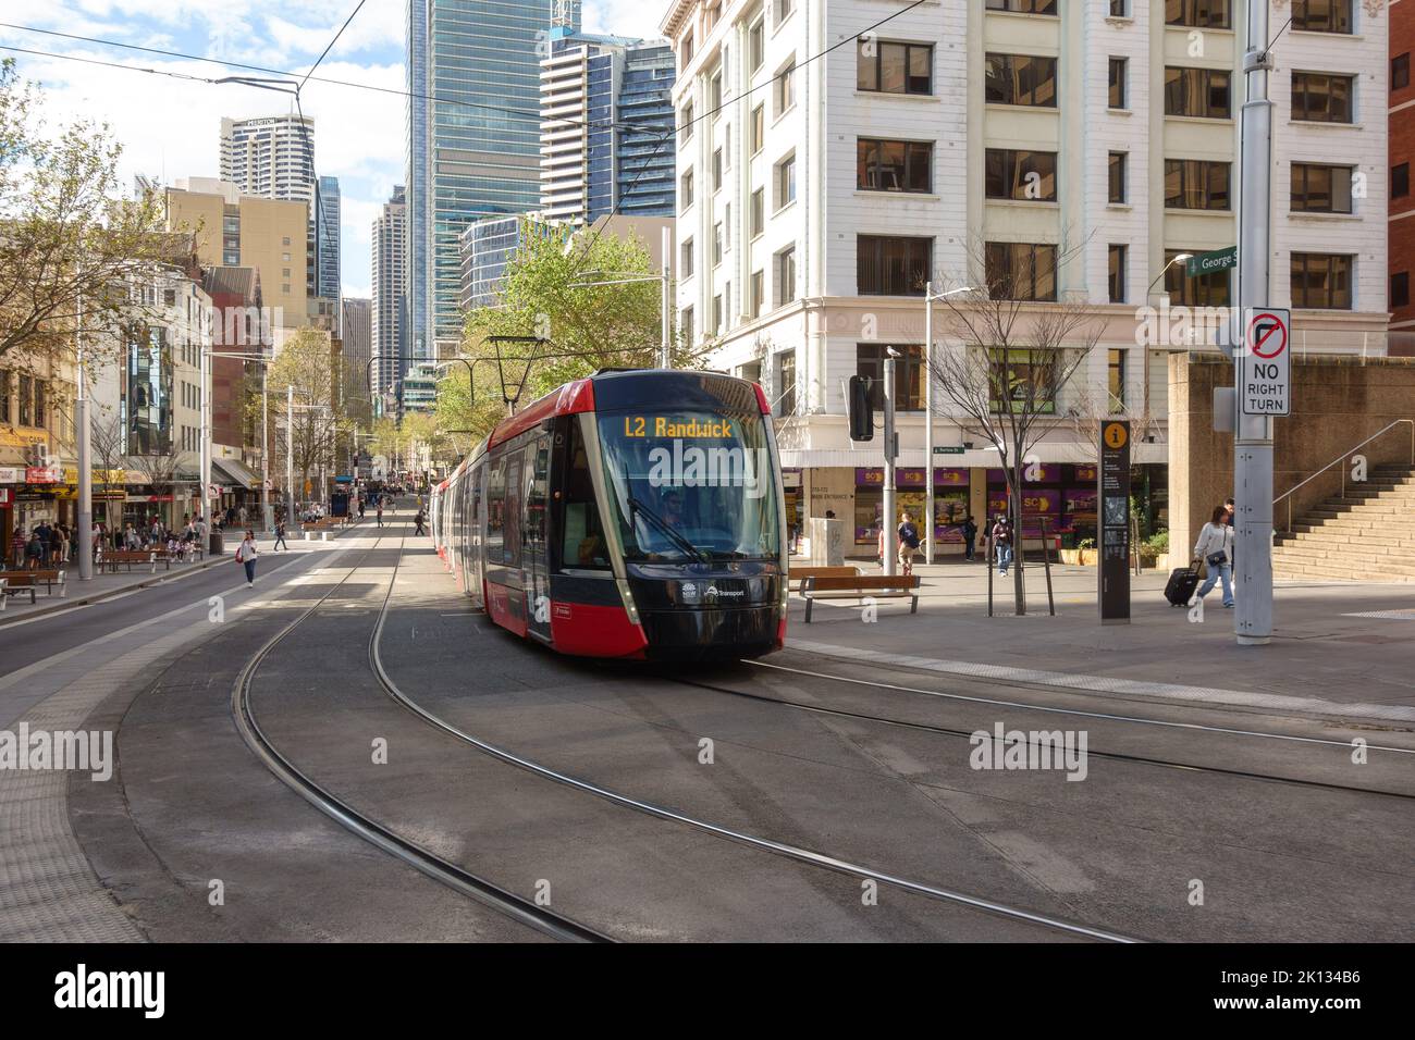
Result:
[[[1373,467],[1292,528],[1274,541],[1274,577],[1415,582],[1415,470]]]

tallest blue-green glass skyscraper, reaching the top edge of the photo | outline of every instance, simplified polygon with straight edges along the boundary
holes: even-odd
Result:
[[[409,0],[406,171],[413,358],[461,340],[458,236],[541,201],[552,0]],[[569,16],[579,25],[579,11]],[[436,100],[430,98],[436,95]]]

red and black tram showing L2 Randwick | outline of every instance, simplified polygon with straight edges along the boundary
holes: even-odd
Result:
[[[432,495],[439,555],[518,635],[610,658],[781,647],[787,532],[761,388],[601,371],[502,420]]]

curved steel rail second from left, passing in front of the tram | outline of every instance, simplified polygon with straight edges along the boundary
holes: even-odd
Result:
[[[640,798],[634,798],[633,795],[623,794],[621,791],[614,791],[611,788],[594,784],[589,780],[582,780],[567,773],[562,773],[556,768],[552,768],[550,765],[535,761],[532,758],[526,758],[525,756],[516,754],[515,751],[492,744],[487,740],[483,740],[460,729],[458,726],[447,722],[441,716],[430,712],[429,709],[423,707],[420,703],[409,698],[402,691],[402,688],[393,681],[393,678],[388,674],[388,669],[383,666],[382,655],[379,652],[379,642],[382,640],[383,623],[388,618],[388,607],[389,603],[392,601],[393,584],[396,583],[398,567],[400,566],[400,563],[402,563],[402,556],[399,556],[399,562],[393,565],[393,574],[391,576],[388,583],[388,593],[383,597],[383,604],[379,608],[378,621],[375,623],[374,631],[369,637],[369,664],[372,665],[374,674],[378,676],[379,683],[383,686],[389,698],[392,698],[396,703],[402,705],[405,709],[416,715],[427,724],[441,730],[443,733],[447,733],[449,736],[456,737],[457,740],[468,744],[470,747],[474,747],[478,751],[492,758],[522,768],[533,775],[542,777],[545,780],[552,780],[558,784],[563,784],[584,794],[594,795],[614,805],[620,805],[623,808],[635,812],[642,812],[645,815],[655,816],[658,819],[664,819],[672,824],[681,824],[695,831],[702,831],[716,838],[739,842],[749,848],[782,856],[785,859],[791,859],[798,863],[807,863],[809,866],[824,867],[826,870],[848,874],[850,877],[872,879],[880,884],[889,884],[891,887],[900,889],[903,891],[910,891],[917,896],[924,896],[928,899],[952,903],[974,910],[981,910],[985,913],[996,914],[999,917],[1006,917],[1016,921],[1027,921],[1030,924],[1067,932],[1070,935],[1098,940],[1102,942],[1142,941],[1132,937],[1119,935],[1116,932],[1109,932],[1102,928],[1092,928],[1090,925],[1077,924],[1074,921],[1065,921],[1057,917],[1037,914],[1030,910],[1023,910],[1020,907],[1012,907],[1003,903],[995,903],[992,900],[986,900],[978,896],[971,896],[968,893],[955,891],[951,889],[942,889],[908,877],[900,877],[897,874],[891,874],[884,870],[877,870],[874,867],[865,866],[863,863],[853,863],[845,859],[829,856],[822,852],[816,852],[814,849],[791,845],[788,842],[778,842],[771,838],[751,835],[743,831],[736,831],[733,828],[723,826],[720,824],[713,824],[706,819],[699,819],[696,816],[679,812],[678,809],[672,809],[665,805],[658,805]]]

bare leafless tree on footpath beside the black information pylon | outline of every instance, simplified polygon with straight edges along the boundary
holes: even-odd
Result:
[[[1082,299],[1058,297],[1056,272],[1078,255],[1056,246],[1056,266],[1034,267],[1036,250],[1013,259],[975,243],[976,289],[942,297],[947,342],[932,351],[931,375],[955,410],[958,424],[998,451],[1007,481],[1016,560],[1016,613],[1026,614],[1022,569],[1022,488],[1029,456],[1057,424],[1063,389],[1099,341],[1104,321]],[[1017,297],[1030,299],[1017,299]],[[1051,299],[1058,297],[1058,299]]]

